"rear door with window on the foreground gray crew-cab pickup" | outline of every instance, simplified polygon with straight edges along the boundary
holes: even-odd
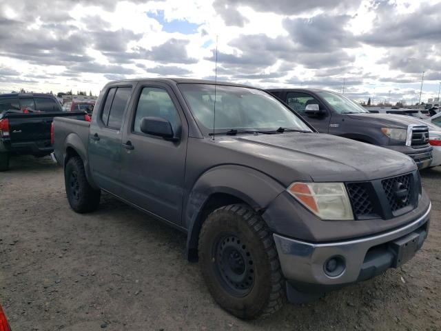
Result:
[[[121,128],[132,88],[111,86],[89,130],[89,161],[94,181],[116,195],[121,194]]]

